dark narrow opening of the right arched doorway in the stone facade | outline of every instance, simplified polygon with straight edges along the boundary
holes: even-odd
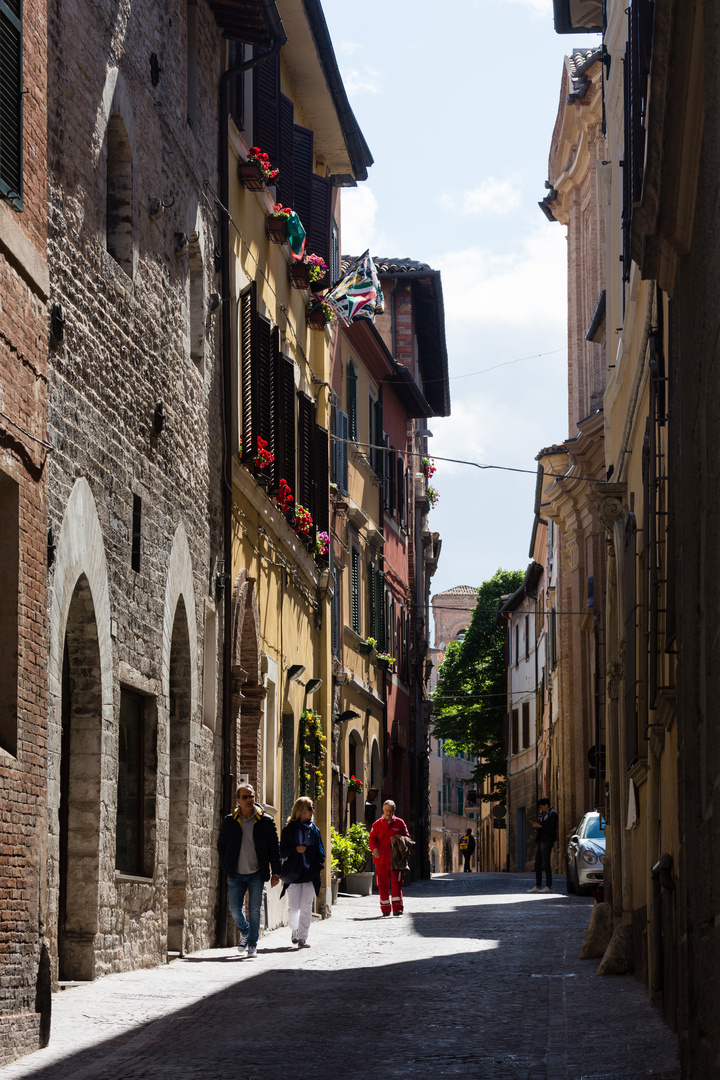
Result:
[[[188,886],[191,656],[182,597],[173,622],[169,653],[169,814],[167,840],[167,951],[184,951]]]

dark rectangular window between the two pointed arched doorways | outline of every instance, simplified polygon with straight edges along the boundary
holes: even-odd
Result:
[[[121,688],[118,747],[116,867],[151,877],[155,807],[154,725],[151,703]]]

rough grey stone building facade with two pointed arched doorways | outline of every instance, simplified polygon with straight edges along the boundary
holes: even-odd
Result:
[[[210,944],[223,583],[210,6],[49,11],[54,980]],[[219,576],[219,577],[218,577]]]

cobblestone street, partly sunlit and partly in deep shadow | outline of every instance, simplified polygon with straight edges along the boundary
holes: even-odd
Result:
[[[678,1080],[640,983],[576,959],[592,900],[532,883],[438,875],[391,919],[341,896],[311,948],[281,929],[257,958],[214,949],[64,990],[50,1047],[0,1080]]]

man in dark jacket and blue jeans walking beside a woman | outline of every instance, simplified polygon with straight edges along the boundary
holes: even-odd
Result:
[[[280,881],[280,845],[275,823],[255,802],[252,784],[237,788],[237,806],[222,822],[217,849],[228,875],[228,907],[240,930],[237,951],[257,956],[262,892],[266,881]],[[246,892],[249,921],[243,910]]]

